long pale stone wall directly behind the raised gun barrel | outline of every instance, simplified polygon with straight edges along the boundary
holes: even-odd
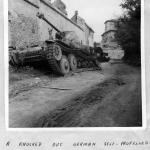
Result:
[[[37,12],[44,13],[45,17],[60,31],[74,31],[79,41],[86,45],[85,33],[78,26],[66,19],[39,0],[29,0],[39,6],[33,7],[24,0],[9,0],[9,46],[25,48],[40,41],[49,39],[49,26],[45,21],[36,17]],[[50,5],[49,0],[44,0]],[[63,17],[64,16],[64,17]],[[52,35],[55,36],[53,30]]]

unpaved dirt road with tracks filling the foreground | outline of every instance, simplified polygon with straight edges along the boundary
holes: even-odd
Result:
[[[140,69],[125,64],[61,78],[25,76],[10,82],[9,96],[10,127],[142,125]]]

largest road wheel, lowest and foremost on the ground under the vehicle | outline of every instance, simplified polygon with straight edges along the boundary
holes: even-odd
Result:
[[[68,74],[70,71],[70,65],[69,65],[69,61],[67,59],[66,56],[62,56],[61,60],[60,60],[60,70],[61,70],[61,74],[65,75]]]

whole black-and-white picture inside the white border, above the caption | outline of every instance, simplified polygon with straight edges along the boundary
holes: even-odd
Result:
[[[141,0],[8,0],[8,128],[142,128]]]

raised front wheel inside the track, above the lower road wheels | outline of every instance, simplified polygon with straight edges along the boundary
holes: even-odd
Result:
[[[59,45],[54,45],[53,47],[53,57],[57,60],[60,61],[62,58],[62,51]]]

